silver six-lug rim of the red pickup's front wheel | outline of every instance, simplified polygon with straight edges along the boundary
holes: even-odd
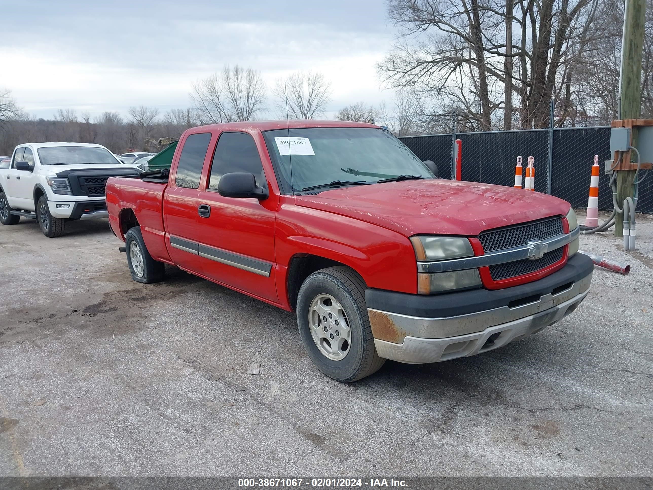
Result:
[[[351,329],[342,304],[327,294],[313,298],[308,325],[319,351],[332,361],[342,361],[351,349]]]

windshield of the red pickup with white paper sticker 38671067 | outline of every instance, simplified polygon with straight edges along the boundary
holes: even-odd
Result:
[[[313,127],[263,134],[283,193],[337,180],[377,182],[400,175],[434,178],[426,165],[385,129]]]

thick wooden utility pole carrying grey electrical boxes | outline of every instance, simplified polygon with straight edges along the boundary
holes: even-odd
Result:
[[[620,119],[637,119],[641,116],[642,48],[644,45],[644,20],[646,0],[626,0],[624,36],[622,38],[622,63],[620,74]],[[632,146],[637,146],[637,129],[633,127]],[[635,195],[635,171],[622,170],[616,175],[616,202],[622,206],[626,197]],[[624,216],[616,215],[614,236],[624,236]]]

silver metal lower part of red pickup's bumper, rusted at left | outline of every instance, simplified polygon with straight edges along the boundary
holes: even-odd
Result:
[[[555,295],[509,308],[449,318],[419,318],[368,308],[380,357],[409,364],[437,363],[500,348],[542,331],[585,299],[592,274]]]

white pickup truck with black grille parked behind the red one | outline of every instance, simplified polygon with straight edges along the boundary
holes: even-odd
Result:
[[[16,146],[0,167],[0,223],[35,218],[46,237],[59,237],[66,221],[106,218],[109,177],[139,174],[99,144],[29,143]]]

